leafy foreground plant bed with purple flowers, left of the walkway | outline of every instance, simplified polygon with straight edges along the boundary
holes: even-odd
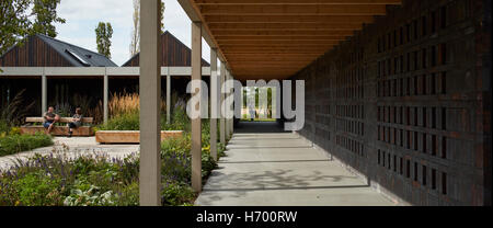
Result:
[[[190,135],[170,138],[161,147],[161,198],[164,206],[193,205]],[[219,156],[223,155],[219,145]],[[67,148],[66,148],[67,150]],[[136,206],[139,204],[139,159],[91,155],[69,159],[66,150],[18,161],[0,172],[0,205],[4,206]],[[202,174],[217,163],[205,145]]]

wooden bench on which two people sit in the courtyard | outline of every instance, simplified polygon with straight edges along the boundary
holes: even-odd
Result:
[[[43,124],[44,118],[43,117],[26,117],[25,122],[28,125],[24,125],[21,127],[21,134],[27,134],[27,135],[34,135],[36,133],[45,133],[46,129],[43,127],[43,125],[33,125],[34,123]],[[68,124],[72,122],[72,117],[61,117],[58,123],[61,124]],[[57,123],[57,124],[58,124]],[[83,117],[82,124],[92,124],[93,117]],[[54,136],[68,136],[69,129],[67,126],[56,126],[51,130],[51,135]],[[73,129],[72,136],[93,136],[94,133],[92,132],[91,126],[80,126],[76,129]]]

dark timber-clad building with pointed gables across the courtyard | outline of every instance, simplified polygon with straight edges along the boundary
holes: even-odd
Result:
[[[163,67],[191,66],[191,49],[168,31],[162,34]],[[208,62],[203,60],[204,66]],[[1,67],[117,67],[105,56],[45,35],[27,37],[22,45],[15,45],[0,57]],[[138,67],[139,55],[130,58],[123,67]],[[185,94],[188,78],[173,78],[173,90]],[[1,77],[1,102],[4,106],[18,92],[26,89],[25,103],[35,102],[31,114],[41,113],[41,77]],[[111,77],[110,94],[138,92],[137,77]],[[48,77],[48,105],[79,105],[80,100],[96,106],[103,100],[103,80],[87,76]],[[165,90],[165,83],[162,83]],[[162,93],[165,95],[165,92]]]

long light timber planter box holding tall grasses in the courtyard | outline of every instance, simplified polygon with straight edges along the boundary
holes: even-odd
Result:
[[[182,135],[183,130],[162,130],[161,140]],[[99,130],[95,138],[100,144],[139,144],[140,130]]]

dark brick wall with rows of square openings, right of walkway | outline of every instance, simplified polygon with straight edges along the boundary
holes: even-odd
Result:
[[[300,134],[408,203],[488,202],[478,2],[404,0],[298,72]]]

